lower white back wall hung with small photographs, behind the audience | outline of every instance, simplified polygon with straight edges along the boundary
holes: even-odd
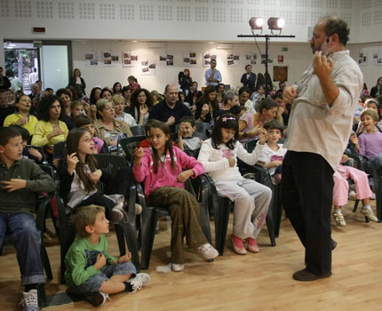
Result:
[[[128,76],[136,76],[139,84],[148,90],[157,90],[163,92],[164,86],[169,83],[178,83],[179,71],[184,68],[189,68],[191,76],[199,83],[199,86],[205,85],[204,72],[207,68],[203,68],[202,57],[204,51],[216,49],[216,44],[205,43],[167,43],[165,49],[150,49],[147,48],[146,42],[123,42],[123,41],[107,41],[107,40],[87,40],[87,41],[74,41],[73,48],[73,68],[79,68],[82,76],[87,84],[86,91],[89,94],[92,86],[112,86],[116,81],[123,85],[127,84]],[[247,53],[256,52],[258,54],[258,63],[253,65],[252,71],[255,73],[265,72],[265,66],[259,63],[259,51],[255,44],[232,44],[233,50],[215,50],[218,57],[218,69],[223,76],[223,83],[230,84],[231,87],[242,86],[240,78],[244,73],[244,67],[248,63],[245,60]],[[287,46],[288,52],[282,52],[282,47]],[[265,44],[259,44],[262,53],[265,52]],[[112,50],[120,52],[135,51],[139,54],[141,59],[156,60],[156,75],[155,76],[141,76],[140,66],[137,68],[123,68],[120,61],[113,68],[104,68],[99,66],[91,68],[85,66],[84,54],[87,50],[107,51]],[[173,67],[160,67],[159,53],[168,52],[174,55]],[[185,67],[183,64],[183,52],[196,52],[197,66],[195,68]],[[227,52],[239,53],[241,60],[238,67],[227,66]],[[277,63],[277,56],[283,55],[283,64]],[[308,44],[277,44],[271,42],[269,47],[269,56],[274,60],[274,64],[269,65],[269,72],[273,76],[273,65],[276,66],[289,66],[289,81],[292,83],[298,79],[304,68],[312,61],[312,52]],[[277,84],[277,83],[275,83]]]

